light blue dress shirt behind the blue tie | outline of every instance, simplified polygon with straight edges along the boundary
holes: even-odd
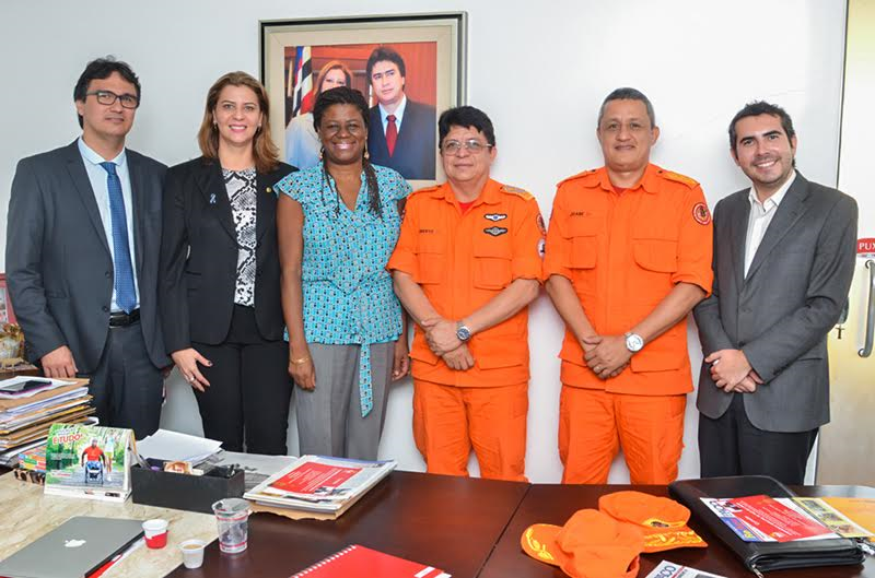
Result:
[[[116,164],[116,174],[119,181],[121,181],[121,197],[125,199],[125,217],[128,222],[128,247],[130,248],[130,262],[133,269],[133,292],[136,296],[135,308],[140,306],[140,290],[137,281],[137,259],[136,251],[133,250],[133,198],[130,191],[130,172],[128,170],[128,157],[125,150],[115,158],[104,158],[97,154],[91,146],[85,144],[85,141],[80,137],[77,141],[79,144],[79,153],[82,155],[82,162],[85,165],[85,173],[91,182],[91,190],[94,191],[94,199],[97,201],[97,210],[101,213],[101,221],[103,222],[103,231],[106,235],[106,244],[109,247],[109,255],[113,257],[113,262],[116,262],[115,247],[113,246],[113,217],[109,212],[109,189],[106,186],[106,169],[101,166],[101,163],[110,162]],[[113,285],[113,303],[110,304],[110,311],[121,311],[121,306],[118,305],[116,299],[116,287]]]

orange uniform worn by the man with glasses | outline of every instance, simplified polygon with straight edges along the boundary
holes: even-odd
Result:
[[[413,192],[387,269],[418,283],[441,317],[463,319],[516,279],[541,281],[544,223],[535,198],[488,180],[463,213],[448,184]],[[528,307],[468,341],[475,365],[453,370],[416,327],[413,437],[428,471],[525,480]]]

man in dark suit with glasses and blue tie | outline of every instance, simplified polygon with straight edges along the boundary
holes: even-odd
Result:
[[[28,357],[47,377],[88,377],[102,425],[159,426],[170,365],[156,311],[166,167],[125,149],[140,83],[90,62],[73,91],[82,135],[19,162],[7,274]]]

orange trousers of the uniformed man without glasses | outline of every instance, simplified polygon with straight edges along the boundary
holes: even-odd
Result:
[[[630,396],[562,385],[563,484],[606,484],[622,447],[633,484],[668,484],[684,449],[687,396]]]

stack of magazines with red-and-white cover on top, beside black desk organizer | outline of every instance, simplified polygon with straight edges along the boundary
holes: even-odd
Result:
[[[337,518],[386,477],[395,461],[359,461],[322,456],[302,456],[243,497],[256,511],[289,517],[310,512]]]

